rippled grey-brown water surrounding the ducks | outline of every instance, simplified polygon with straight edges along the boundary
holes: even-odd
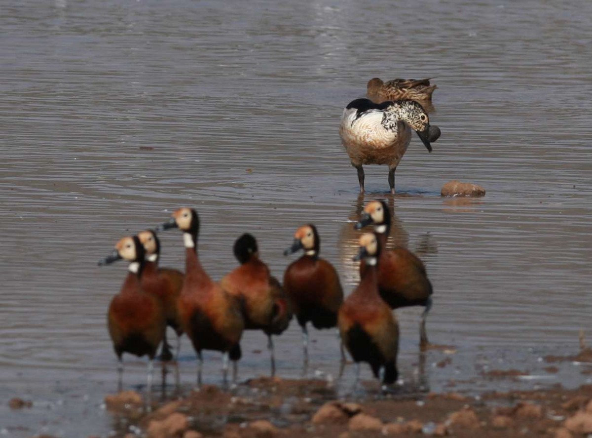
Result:
[[[100,408],[116,388],[105,311],[126,271],[96,261],[176,207],[200,212],[215,278],[235,266],[242,232],[281,276],[292,232],[314,222],[349,292],[348,221],[388,184],[386,168],[366,167],[358,198],[338,126],[374,76],[439,87],[442,137],[427,154],[414,136],[389,197],[395,241],[422,256],[435,287],[430,340],[458,349],[445,369],[433,366],[443,353],[428,355],[429,388],[577,349],[592,284],[590,16],[586,0],[2,2],[0,399],[36,404],[12,413],[2,401],[0,434],[114,427]],[[451,179],[487,196],[442,199]],[[182,267],[181,235],[162,240],[163,266]],[[419,314],[397,311],[406,381]],[[334,376],[334,333],[311,337],[309,375]],[[243,339],[240,378],[267,373],[263,335]],[[300,347],[292,322],[276,340],[279,376],[300,376]],[[127,362],[124,385],[142,385],[144,362]],[[208,382],[219,367],[208,354]],[[191,388],[186,338],[181,376]]]

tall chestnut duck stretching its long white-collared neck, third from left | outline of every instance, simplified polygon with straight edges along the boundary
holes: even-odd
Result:
[[[185,279],[177,300],[181,327],[194,347],[198,359],[197,383],[201,387],[203,350],[223,353],[223,379],[227,382],[229,359],[236,381],[237,362],[242,356],[240,338],[244,330],[242,305],[214,282],[201,265],[197,252],[200,217],[194,209],[181,207],[157,231],[178,228],[185,246]]]

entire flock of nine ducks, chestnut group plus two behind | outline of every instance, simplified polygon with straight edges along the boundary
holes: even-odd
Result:
[[[394,79],[386,83],[368,82],[368,97],[356,99],[343,111],[340,136],[350,161],[358,170],[364,191],[364,164],[388,164],[388,183],[394,193],[394,172],[411,139],[417,132],[428,151],[440,136],[430,125],[428,111],[436,85],[429,79]],[[111,300],[107,321],[118,370],[123,372],[123,353],[149,358],[147,383],[152,383],[153,359],[160,346],[160,359],[178,359],[179,340],[186,334],[197,354],[198,385],[202,381],[202,351],[223,353],[223,379],[227,382],[230,362],[233,381],[242,356],[240,339],[244,330],[260,330],[268,337],[271,372],[275,373],[273,336],[281,335],[295,317],[303,334],[304,360],[308,360],[308,322],[314,328],[337,328],[343,348],[358,365],[366,362],[384,385],[397,381],[399,330],[392,309],[423,306],[420,347],[428,345],[426,316],[432,306],[432,284],[426,268],[405,248],[387,250],[391,214],[381,200],[366,203],[355,229],[373,227],[362,234],[359,252],[360,283],[344,299],[339,274],[320,257],[320,236],[308,223],[294,234],[294,242],[284,255],[303,251],[288,265],[282,282],[271,275],[259,258],[256,239],[243,234],[234,243],[239,261],[233,271],[215,282],[198,257],[200,216],[182,207],[156,229],[126,236],[99,266],[117,260],[129,263],[120,292]],[[185,273],[158,266],[160,241],[157,232],[182,231],[185,246]],[[173,356],[166,340],[167,327],[177,336]],[[356,373],[356,379],[357,379]]]

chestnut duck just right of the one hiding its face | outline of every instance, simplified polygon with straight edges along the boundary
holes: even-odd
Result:
[[[318,257],[320,246],[316,226],[308,223],[296,230],[294,242],[284,251],[284,255],[289,255],[304,250],[286,268],[283,283],[302,330],[305,363],[308,362],[307,323],[311,322],[317,330],[337,327],[337,312],[343,302],[339,274],[332,264]]]

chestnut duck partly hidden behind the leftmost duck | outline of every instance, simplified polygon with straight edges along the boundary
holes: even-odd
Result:
[[[155,295],[165,311],[166,325],[172,328],[177,335],[176,359],[179,358],[179,351],[181,345],[181,321],[177,312],[177,299],[181,293],[183,286],[183,279],[185,275],[176,269],[158,267],[160,258],[160,239],[156,235],[156,231],[147,229],[140,231],[137,234],[140,243],[146,252],[146,263],[141,276],[141,286],[147,293]],[[160,360],[168,361],[173,359],[170,352],[169,343],[165,339],[162,343],[162,351],[160,352]]]

